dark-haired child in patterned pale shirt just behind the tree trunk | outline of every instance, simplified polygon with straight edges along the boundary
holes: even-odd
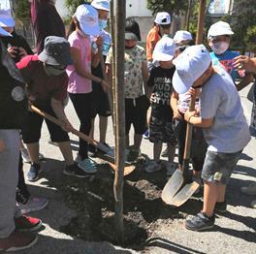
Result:
[[[125,21],[124,55],[124,96],[125,96],[125,133],[126,147],[129,148],[129,132],[133,124],[135,129],[134,145],[128,154],[128,161],[135,161],[140,154],[140,147],[145,131],[146,111],[149,101],[144,95],[148,72],[144,48],[137,45],[141,41],[139,24],[131,17]],[[108,77],[112,79],[112,48],[107,56]],[[143,86],[144,83],[144,86]]]

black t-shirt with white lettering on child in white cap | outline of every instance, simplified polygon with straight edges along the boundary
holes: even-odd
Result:
[[[160,66],[152,69],[148,79],[148,85],[153,86],[155,103],[157,105],[170,106],[171,95],[173,92],[172,79],[176,68],[163,69]]]

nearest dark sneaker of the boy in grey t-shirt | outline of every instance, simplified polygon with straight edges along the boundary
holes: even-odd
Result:
[[[187,230],[192,231],[203,231],[212,229],[214,227],[215,216],[212,215],[210,218],[203,212],[199,212],[197,215],[186,219],[185,227]]]

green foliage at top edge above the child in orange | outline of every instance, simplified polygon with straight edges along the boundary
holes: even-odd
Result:
[[[168,12],[179,15],[187,10],[187,0],[147,0],[147,8],[155,15],[158,12]]]

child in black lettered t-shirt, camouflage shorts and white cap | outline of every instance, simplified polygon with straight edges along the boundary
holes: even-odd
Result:
[[[149,123],[149,141],[154,143],[154,161],[146,168],[147,173],[154,173],[162,169],[160,154],[162,144],[167,143],[168,160],[171,171],[175,171],[176,138],[173,131],[174,112],[170,105],[173,91],[172,79],[176,71],[173,65],[176,46],[169,37],[162,38],[153,52],[153,59],[159,62],[159,67],[150,73],[148,86],[153,91],[151,119]]]

